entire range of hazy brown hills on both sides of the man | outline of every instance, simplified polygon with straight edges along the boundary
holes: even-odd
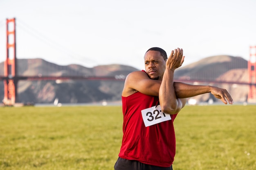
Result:
[[[43,59],[18,59],[18,74],[22,76],[127,76],[136,68],[127,65],[99,65],[86,68],[82,65],[57,65]],[[0,75],[3,75],[3,62],[0,63]],[[247,61],[241,57],[213,56],[191,63],[175,71],[175,79],[203,79],[211,77],[220,80],[245,81]],[[202,84],[202,83],[201,83]],[[216,85],[226,88],[235,102],[247,100],[247,85]],[[19,81],[19,102],[53,103],[56,98],[61,103],[88,103],[121,100],[124,81]],[[0,98],[4,96],[3,83],[0,83]],[[213,98],[210,94],[194,97],[207,102]]]

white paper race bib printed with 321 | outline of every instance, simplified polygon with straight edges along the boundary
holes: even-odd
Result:
[[[141,114],[146,127],[171,120],[171,115],[163,113],[160,105],[141,110]]]

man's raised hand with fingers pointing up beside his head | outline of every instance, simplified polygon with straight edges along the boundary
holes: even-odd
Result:
[[[184,62],[183,56],[183,50],[182,48],[177,48],[175,50],[171,51],[171,55],[168,57],[166,61],[166,68],[169,68],[171,70],[175,70],[176,68],[179,68],[182,63]]]

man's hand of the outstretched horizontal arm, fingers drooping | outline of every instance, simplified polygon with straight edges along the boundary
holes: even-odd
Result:
[[[211,94],[213,94],[214,97],[219,98],[226,105],[227,105],[227,100],[229,101],[229,104],[231,105],[233,104],[233,99],[226,89],[221,89],[215,86],[210,86],[210,88],[211,88]]]

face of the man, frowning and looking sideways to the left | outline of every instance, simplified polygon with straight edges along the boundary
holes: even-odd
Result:
[[[166,61],[159,51],[148,51],[144,56],[145,70],[148,77],[154,80],[162,80]]]

